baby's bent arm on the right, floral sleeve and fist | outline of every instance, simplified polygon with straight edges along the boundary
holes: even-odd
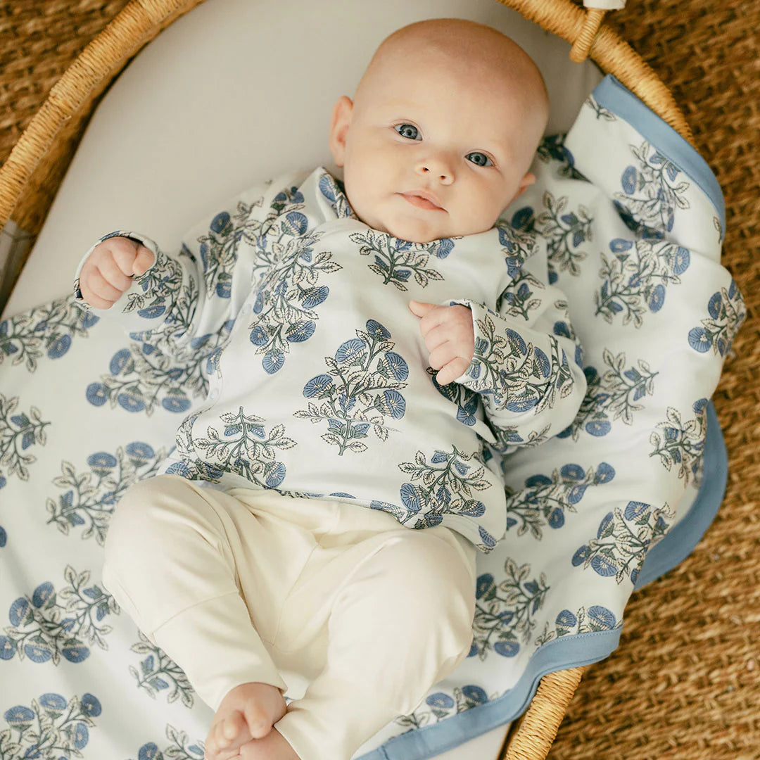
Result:
[[[563,293],[523,275],[502,294],[498,310],[466,299],[410,303],[436,382],[477,392],[502,453],[562,432],[586,391]]]

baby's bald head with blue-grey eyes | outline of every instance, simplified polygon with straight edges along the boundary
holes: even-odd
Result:
[[[410,24],[378,47],[330,147],[353,211],[412,242],[489,230],[534,181],[546,86],[521,47],[459,19]]]

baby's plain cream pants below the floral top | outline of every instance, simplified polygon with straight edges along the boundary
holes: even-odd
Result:
[[[309,683],[275,724],[302,760],[349,760],[470,650],[476,549],[446,527],[161,475],[125,493],[105,555],[106,589],[214,710],[241,683]]]

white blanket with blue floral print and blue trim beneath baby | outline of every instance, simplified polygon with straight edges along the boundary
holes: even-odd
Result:
[[[689,554],[723,494],[709,399],[745,309],[711,170],[612,77],[533,170],[503,221],[546,239],[587,394],[560,435],[505,457],[470,657],[363,760],[431,757],[517,717],[544,674],[606,657],[632,591]],[[205,390],[200,363],[71,298],[0,322],[0,760],[203,757],[210,708],[100,567],[119,496]]]

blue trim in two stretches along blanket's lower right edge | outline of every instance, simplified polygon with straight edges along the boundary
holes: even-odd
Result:
[[[686,559],[713,521],[728,481],[728,454],[712,401],[707,405],[704,473],[689,513],[647,554],[635,588],[641,588]],[[504,695],[440,723],[394,736],[358,760],[424,760],[453,749],[519,717],[547,673],[603,660],[617,648],[621,629],[556,638],[538,649],[521,679]]]

